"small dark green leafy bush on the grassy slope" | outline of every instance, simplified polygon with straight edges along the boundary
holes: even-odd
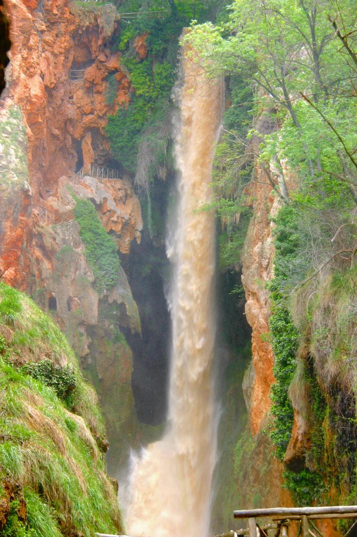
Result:
[[[29,362],[21,371],[54,388],[62,401],[68,401],[70,394],[77,388],[77,377],[70,365],[61,367],[54,365],[51,360],[41,360],[36,364]]]

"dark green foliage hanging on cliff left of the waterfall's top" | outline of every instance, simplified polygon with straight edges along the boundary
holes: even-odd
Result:
[[[136,12],[126,21],[123,17],[120,35],[111,47],[122,52],[122,62],[129,71],[133,95],[127,107],[109,115],[106,134],[114,158],[124,168],[136,173],[135,183],[147,190],[155,177],[165,179],[172,162],[167,158],[170,145],[171,93],[175,81],[178,37],[190,20],[214,18],[222,7],[221,0],[183,2],[153,1],[150,7],[143,0],[129,0],[119,11]],[[148,17],[146,11],[164,9],[161,17]],[[147,34],[147,55],[139,59],[135,38]],[[108,92],[110,89],[108,90]]]

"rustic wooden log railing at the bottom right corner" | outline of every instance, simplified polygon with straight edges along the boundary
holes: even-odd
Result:
[[[357,505],[337,505],[327,507],[273,507],[272,509],[250,509],[234,511],[234,518],[248,518],[248,528],[231,529],[227,533],[217,537],[235,537],[235,535],[249,535],[257,537],[257,531],[264,535],[269,529],[278,529],[276,536],[287,537],[288,526],[293,520],[300,522],[297,535],[302,537],[324,537],[313,520],[334,518],[357,518]],[[257,518],[270,518],[273,524],[259,526]],[[353,529],[352,529],[353,528]],[[357,521],[349,528],[345,537],[348,537],[357,529]]]

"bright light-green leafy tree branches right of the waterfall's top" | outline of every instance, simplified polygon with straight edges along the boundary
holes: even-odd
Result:
[[[356,166],[345,150],[352,153],[356,147],[355,73],[329,16],[345,30],[354,25],[347,0],[338,8],[325,0],[308,5],[236,0],[226,24],[194,26],[185,38],[198,50],[200,62],[206,62],[207,72],[221,71],[239,77],[246,88],[259,88],[253,108],[273,112],[271,125],[259,126],[261,162],[284,159],[321,201],[331,177],[340,188],[343,183],[355,192],[357,186]],[[247,106],[248,99],[238,104]]]

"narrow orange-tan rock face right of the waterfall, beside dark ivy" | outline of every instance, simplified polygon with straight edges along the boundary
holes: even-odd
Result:
[[[258,144],[258,141],[253,143]],[[292,177],[290,181],[288,187],[292,186]],[[246,318],[252,328],[252,362],[243,379],[248,412],[248,441],[245,446],[243,444],[243,453],[244,449],[248,449],[247,445],[250,449],[249,462],[244,456],[241,460],[240,481],[247,491],[245,506],[289,506],[293,504],[282,487],[283,465],[273,457],[269,437],[263,434],[269,425],[269,394],[274,383],[274,355],[268,338],[271,306],[266,283],[273,277],[274,224],[271,219],[277,214],[281,201],[267,184],[265,172],[259,164],[255,166],[246,192],[247,203],[253,211],[242,255],[242,285],[247,299]]]

